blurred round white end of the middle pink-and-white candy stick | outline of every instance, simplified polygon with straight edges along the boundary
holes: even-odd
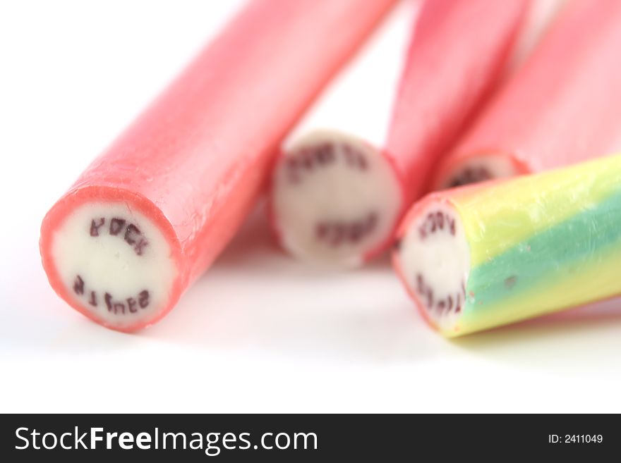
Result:
[[[284,247],[300,259],[344,267],[358,266],[390,237],[402,201],[385,156],[323,130],[287,151],[272,194]]]

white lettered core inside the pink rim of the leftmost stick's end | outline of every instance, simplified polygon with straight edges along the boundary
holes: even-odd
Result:
[[[162,310],[176,276],[159,228],[121,202],[78,207],[56,230],[52,255],[76,301],[119,328]]]

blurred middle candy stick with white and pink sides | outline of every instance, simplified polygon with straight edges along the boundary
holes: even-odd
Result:
[[[354,267],[389,246],[502,75],[528,5],[404,1],[284,144],[270,195],[282,247]]]

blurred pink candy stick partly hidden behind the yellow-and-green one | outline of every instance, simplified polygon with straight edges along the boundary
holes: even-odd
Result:
[[[621,148],[621,1],[574,0],[486,106],[433,188],[586,161]]]

